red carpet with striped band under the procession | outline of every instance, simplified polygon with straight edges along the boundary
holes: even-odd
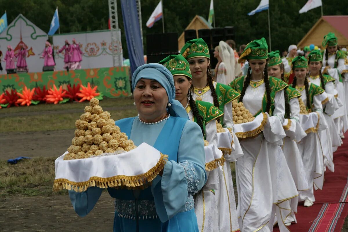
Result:
[[[314,192],[312,207],[299,203],[297,223],[288,226],[291,232],[341,232],[348,214],[348,133],[343,144],[333,154],[335,172],[325,172],[323,190]],[[279,232],[278,227],[274,228]]]

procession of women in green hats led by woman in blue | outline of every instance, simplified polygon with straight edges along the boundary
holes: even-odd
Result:
[[[234,41],[221,41],[212,72],[206,42],[193,39],[180,54],[133,73],[139,114],[116,125],[135,145],[148,143],[168,161],[150,187],[108,188],[116,199],[113,231],[270,232],[277,223],[283,232],[301,222],[298,202],[313,206],[314,190],[325,187],[326,169],[334,171],[333,153],[348,128],[347,53],[333,33],[325,35],[321,50],[303,55],[291,45],[282,58],[268,51],[264,38],[240,49],[238,54]],[[261,133],[236,135],[242,106],[255,120],[263,115]],[[204,146],[205,140],[220,147],[217,125],[228,131],[231,149],[207,169],[209,155],[219,157],[209,152],[222,152]],[[80,216],[101,193],[98,187],[69,191]]]

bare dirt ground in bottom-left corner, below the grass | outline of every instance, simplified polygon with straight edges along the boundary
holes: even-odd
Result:
[[[0,231],[112,231],[113,201],[104,192],[94,209],[79,217],[68,195],[0,199]]]

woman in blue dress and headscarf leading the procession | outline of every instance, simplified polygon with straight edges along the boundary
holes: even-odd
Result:
[[[163,65],[140,66],[133,73],[132,88],[139,114],[115,124],[135,145],[147,143],[168,155],[168,161],[144,190],[108,188],[115,198],[113,231],[198,232],[193,195],[207,176],[201,128],[175,100],[173,76]],[[69,191],[76,213],[86,216],[102,191]]]

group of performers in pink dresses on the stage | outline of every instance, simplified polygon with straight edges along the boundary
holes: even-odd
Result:
[[[64,53],[64,69],[76,70],[81,69],[82,51],[80,45],[76,42],[76,39],[72,40],[72,44],[68,40],[65,40],[65,45],[57,52]],[[19,49],[14,51],[11,45],[7,46],[7,51],[2,59],[2,52],[0,51],[0,71],[3,71],[1,61],[6,62],[5,74],[8,69],[16,69],[17,72],[29,72],[26,58],[28,51],[23,44],[19,45]],[[47,40],[45,43],[45,49],[42,51],[40,58],[44,59],[44,66],[55,66],[54,51],[51,43]],[[17,62],[15,64],[15,62]]]

